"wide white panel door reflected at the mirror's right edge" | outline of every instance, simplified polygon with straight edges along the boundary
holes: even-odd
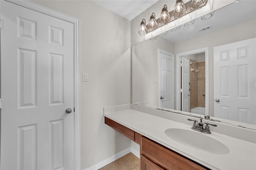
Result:
[[[214,47],[214,117],[256,124],[255,42]]]

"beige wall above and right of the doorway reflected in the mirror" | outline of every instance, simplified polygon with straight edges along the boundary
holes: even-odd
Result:
[[[253,19],[253,20],[249,20],[249,21],[234,25],[234,26],[230,26],[228,28],[224,28],[222,30],[211,32],[203,36],[198,36],[196,38],[192,38],[192,39],[174,44],[175,55],[178,53],[186,52],[186,51],[192,51],[194,49],[209,47],[209,114],[210,116],[213,116],[213,108],[214,108],[213,47],[228,44],[228,43],[238,42],[242,40],[247,40],[255,37],[256,37],[256,20]]]

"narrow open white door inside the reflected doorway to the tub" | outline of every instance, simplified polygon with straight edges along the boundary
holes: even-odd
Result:
[[[182,102],[181,110],[185,112],[190,112],[190,91],[189,91],[189,60],[185,57],[182,57],[182,79],[181,79],[181,88],[182,88]]]

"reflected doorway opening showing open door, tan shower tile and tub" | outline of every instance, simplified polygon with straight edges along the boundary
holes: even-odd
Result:
[[[205,53],[181,57],[181,110],[205,115]]]

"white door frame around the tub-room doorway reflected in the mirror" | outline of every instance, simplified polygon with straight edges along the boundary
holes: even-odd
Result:
[[[181,57],[183,57],[184,55],[191,55],[203,52],[205,53],[205,115],[209,115],[209,47],[176,54],[176,110],[181,110],[181,91],[179,88],[181,86]]]

